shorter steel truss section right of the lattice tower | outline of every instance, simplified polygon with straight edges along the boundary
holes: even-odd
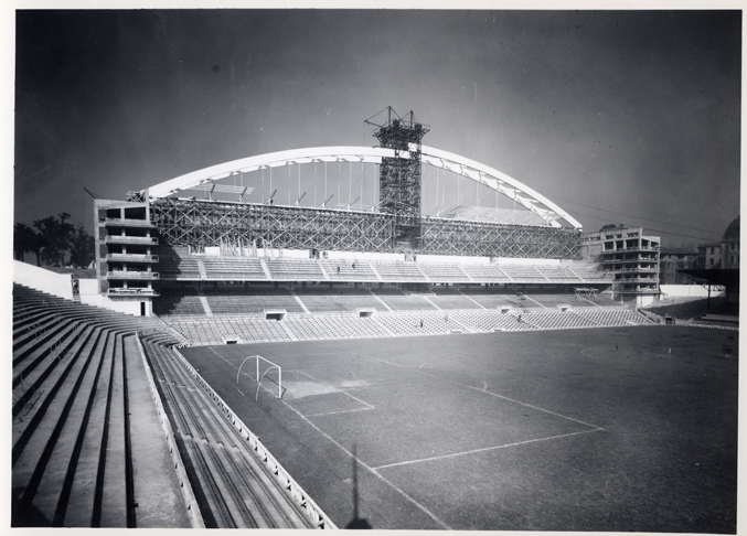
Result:
[[[575,229],[424,218],[420,253],[428,255],[580,259]]]

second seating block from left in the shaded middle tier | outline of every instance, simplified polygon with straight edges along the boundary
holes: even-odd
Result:
[[[220,287],[204,290],[213,314],[257,314],[266,309],[285,309],[287,312],[305,312],[287,289],[255,289]]]

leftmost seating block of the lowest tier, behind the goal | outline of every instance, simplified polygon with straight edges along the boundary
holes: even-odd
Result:
[[[191,345],[223,344],[225,339],[242,342],[290,341],[279,322],[259,319],[175,320],[170,326],[184,335]]]

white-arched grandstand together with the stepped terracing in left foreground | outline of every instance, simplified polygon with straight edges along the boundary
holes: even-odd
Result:
[[[421,146],[427,126],[392,112],[381,147],[252,157],[95,200],[95,291],[81,303],[14,286],[14,526],[334,527],[183,346],[651,323],[581,260],[569,214]],[[243,186],[221,182],[319,162],[377,167],[378,202],[236,202]],[[423,164],[520,208],[424,216]]]

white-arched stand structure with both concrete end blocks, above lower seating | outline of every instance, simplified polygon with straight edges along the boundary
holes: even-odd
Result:
[[[418,122],[412,111],[399,117],[387,108],[383,120],[366,122],[375,127],[378,147],[322,147],[262,154],[129,192],[126,201],[95,200],[97,291],[102,300],[121,312],[150,315],[153,300],[162,290],[173,289],[177,282],[183,288],[186,281],[198,289],[218,281],[241,281],[247,292],[252,292],[248,283],[256,282],[292,288],[338,281],[365,288],[409,285],[426,289],[434,285],[555,285],[611,291],[634,298],[639,305],[658,293],[658,266],[650,270],[647,264],[643,271],[628,274],[627,267],[610,265],[611,260],[627,260],[607,258],[607,250],[594,251],[593,243],[601,244],[600,238],[585,238],[581,225],[541,193],[480,162],[421,144],[429,127]],[[297,169],[300,192],[301,173],[320,163],[350,165],[351,175],[353,164],[377,168],[376,202],[365,206],[349,200],[345,206],[331,207],[329,196],[318,206],[300,206],[300,195],[295,203],[280,204],[275,199],[277,190],[259,203],[244,201],[258,174],[264,178],[266,170],[271,173],[273,169],[288,168],[290,176],[290,168]],[[424,164],[491,189],[497,199],[511,200],[514,208],[457,204],[424,215]],[[647,237],[643,242],[645,246],[641,242],[639,249],[658,250],[658,239]],[[213,272],[203,261],[206,257],[237,256],[257,259],[257,268]],[[374,276],[355,280],[354,276],[339,278],[335,267],[330,272],[330,267],[321,264],[330,256],[358,259],[359,265],[413,266],[395,270],[398,275],[393,277],[372,266]],[[290,275],[274,272],[267,264],[271,258],[297,261],[297,277],[292,270]],[[649,261],[658,265],[658,254],[647,258]],[[424,262],[453,266],[439,276],[433,269],[418,268]],[[465,268],[485,262],[520,268],[498,269],[492,276],[474,270],[470,274]],[[548,270],[532,268],[537,265]],[[569,268],[574,265],[576,271]],[[529,268],[522,270],[522,266]],[[613,282],[616,287],[611,287]]]

